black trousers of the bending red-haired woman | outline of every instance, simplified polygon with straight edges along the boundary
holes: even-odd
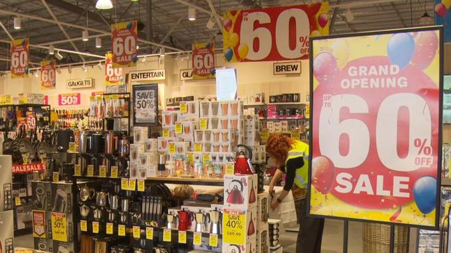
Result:
[[[295,200],[297,223],[300,224],[297,234],[296,253],[321,253],[323,218],[310,218],[307,213],[307,199]]]

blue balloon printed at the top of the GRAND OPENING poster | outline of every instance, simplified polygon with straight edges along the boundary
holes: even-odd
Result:
[[[404,69],[415,53],[415,41],[409,33],[396,33],[388,39],[387,53],[392,64]]]

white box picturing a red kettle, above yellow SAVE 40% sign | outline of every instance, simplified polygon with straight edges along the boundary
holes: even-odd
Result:
[[[257,205],[257,175],[226,175],[224,207],[248,209]]]

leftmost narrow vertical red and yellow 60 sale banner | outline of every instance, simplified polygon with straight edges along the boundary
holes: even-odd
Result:
[[[28,78],[29,60],[28,38],[11,41],[11,78]]]

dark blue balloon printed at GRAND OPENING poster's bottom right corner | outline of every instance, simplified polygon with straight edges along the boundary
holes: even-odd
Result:
[[[425,215],[434,211],[437,195],[437,180],[426,176],[416,180],[413,185],[413,200],[416,206]]]

